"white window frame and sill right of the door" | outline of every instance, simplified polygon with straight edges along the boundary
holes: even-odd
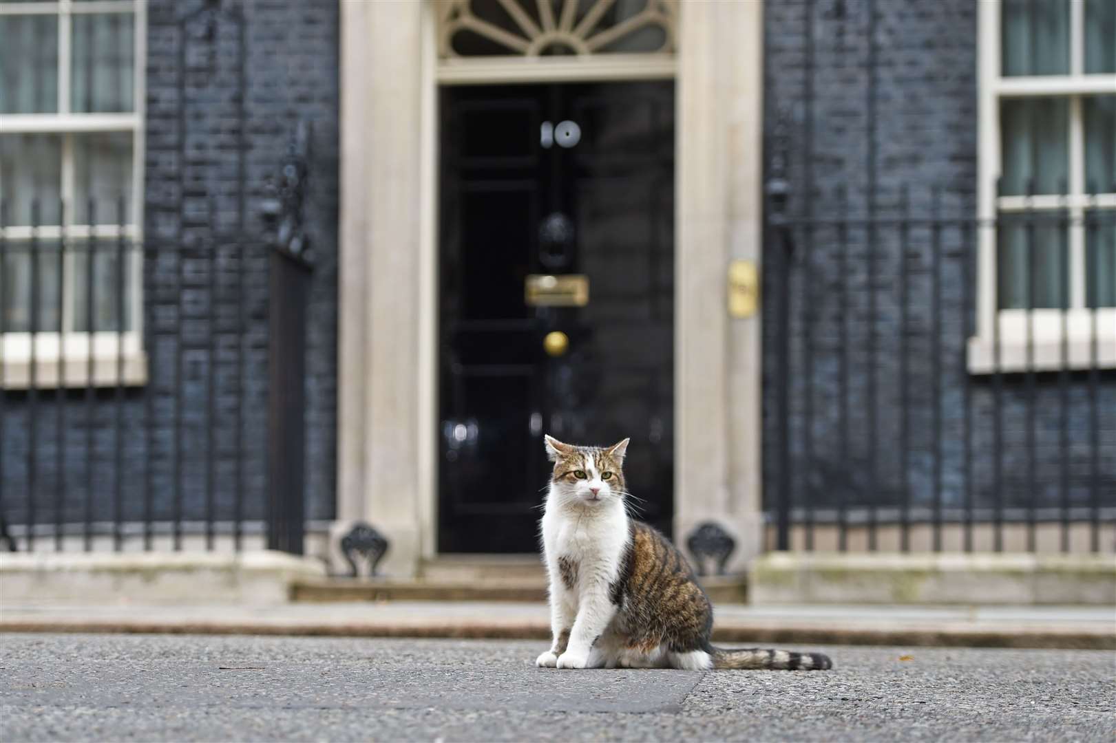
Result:
[[[993,372],[1052,370],[1093,366],[1094,328],[1096,363],[1116,367],[1116,308],[1085,307],[1085,232],[1069,231],[1068,311],[1061,309],[998,310],[997,237],[992,224],[1001,212],[1061,210],[1071,224],[1094,206],[1116,208],[1116,194],[1085,193],[1085,144],[1081,96],[1116,93],[1116,75],[1085,74],[1084,0],[1070,3],[1070,74],[1033,77],[1001,75],[1000,0],[979,4],[979,185],[981,221],[978,245],[977,335],[969,339],[968,364],[973,374]],[[1000,103],[1011,97],[1065,96],[1070,102],[1069,194],[999,196],[1001,173]],[[1029,328],[1029,332],[1028,332]],[[998,336],[998,337],[997,337]],[[999,348],[997,348],[997,346]],[[1065,346],[1065,351],[1064,351]],[[999,358],[997,358],[999,356]],[[1064,356],[1066,358],[1064,358]]]

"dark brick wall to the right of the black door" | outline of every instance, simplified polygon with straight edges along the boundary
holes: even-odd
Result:
[[[789,136],[790,209],[815,216],[899,215],[904,187],[911,214],[932,215],[940,193],[943,215],[971,219],[977,212],[977,4],[971,0],[875,1],[874,49],[869,49],[869,0],[805,0],[766,6],[766,126],[782,118]],[[812,36],[812,60],[808,39]],[[870,69],[869,69],[870,66]],[[875,90],[869,99],[869,71]],[[812,90],[811,90],[812,88]],[[811,120],[812,119],[812,120]],[[810,132],[812,129],[812,136]],[[773,142],[768,141],[770,170]],[[812,171],[812,172],[811,172]],[[812,183],[812,186],[811,186]],[[847,199],[847,203],[845,202]],[[971,239],[970,239],[971,238]],[[796,504],[896,504],[904,475],[912,503],[933,502],[934,380],[941,385],[941,495],[945,506],[963,504],[965,384],[972,395],[972,462],[975,504],[994,502],[991,379],[965,370],[965,260],[975,238],[959,226],[939,233],[942,247],[941,370],[932,364],[934,233],[915,226],[904,237],[894,225],[875,233],[875,278],[869,283],[868,235],[848,230],[847,262],[834,228],[796,229],[797,263],[791,283],[791,461]],[[770,241],[767,243],[772,244]],[[908,330],[905,336],[910,453],[901,441],[902,358],[901,245],[906,245]],[[974,264],[969,264],[975,276]],[[764,278],[768,311],[780,287]],[[845,305],[843,289],[847,292]],[[875,293],[875,310],[870,296]],[[807,329],[809,324],[809,330]],[[844,324],[846,336],[841,335]],[[869,355],[869,330],[875,353]],[[780,329],[764,324],[764,486],[773,505],[780,476],[773,446],[776,351]],[[809,335],[808,335],[809,334]],[[840,364],[848,374],[848,428],[841,424]],[[811,357],[811,358],[810,358]],[[812,364],[812,374],[808,366]],[[870,369],[875,369],[875,393]],[[1090,424],[1086,378],[1069,383],[1069,473],[1072,504],[1089,502]],[[1060,502],[1061,407],[1058,376],[1036,379],[1036,456],[1028,446],[1028,393],[1022,375],[1004,378],[1003,456],[1007,505],[1029,502],[1029,469],[1037,472],[1039,504]],[[876,446],[870,446],[873,402]],[[1100,496],[1116,504],[1116,378],[1101,373],[1096,404],[1100,417]],[[807,418],[811,419],[809,432]],[[807,441],[809,433],[809,442]],[[808,456],[808,447],[812,448]],[[875,457],[873,457],[875,454]],[[875,467],[875,475],[873,475]]]

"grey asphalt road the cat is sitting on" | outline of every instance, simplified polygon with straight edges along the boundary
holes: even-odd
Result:
[[[535,668],[542,645],[0,635],[0,741],[1116,740],[1106,652],[797,648],[836,668],[687,673]]]

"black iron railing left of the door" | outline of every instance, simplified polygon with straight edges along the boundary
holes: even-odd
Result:
[[[278,501],[268,474],[301,461],[301,415],[264,412],[305,385],[305,255],[70,213],[0,204],[0,548],[301,551],[301,466]]]

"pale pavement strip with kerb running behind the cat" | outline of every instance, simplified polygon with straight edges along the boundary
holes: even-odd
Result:
[[[1116,649],[1114,607],[748,606],[719,604],[724,643]],[[278,606],[12,605],[0,631],[271,634],[542,639],[546,604],[377,601]]]

